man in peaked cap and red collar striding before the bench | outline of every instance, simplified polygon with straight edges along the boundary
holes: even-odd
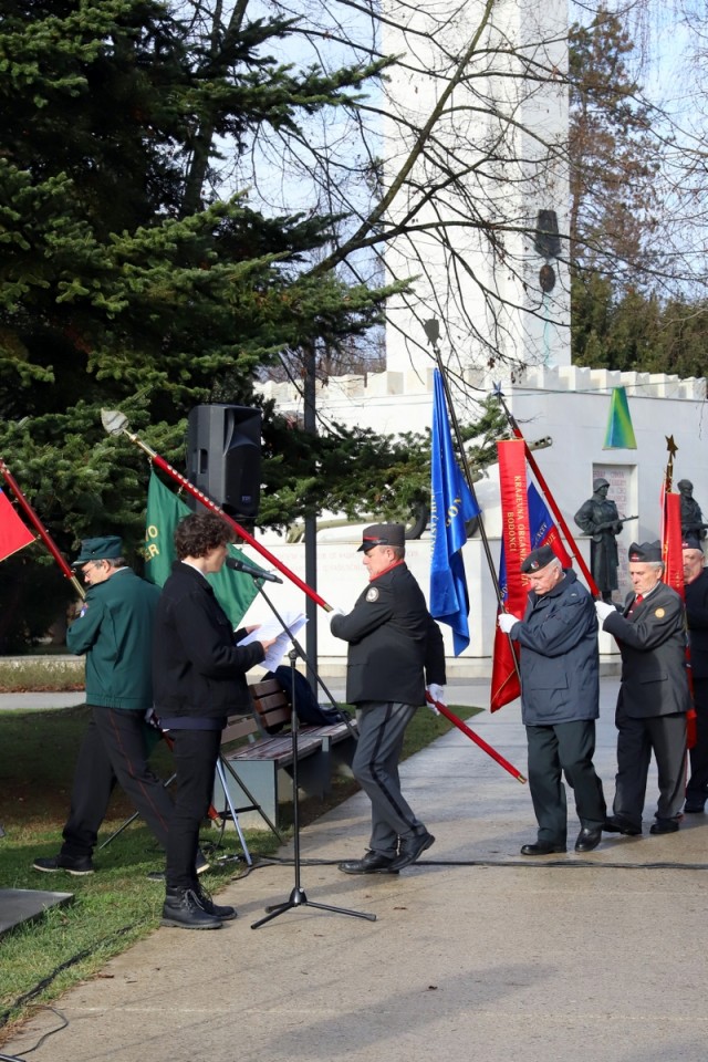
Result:
[[[405,729],[426,701],[442,699],[445,650],[440,628],[405,563],[405,529],[364,529],[368,587],[348,615],[334,615],[332,634],[348,642],[346,699],[356,705],[358,741],[352,770],[372,802],[369,851],[340,864],[345,874],[397,874],[435,837],[400,792],[398,760]]]

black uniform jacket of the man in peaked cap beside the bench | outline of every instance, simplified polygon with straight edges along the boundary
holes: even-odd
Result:
[[[350,643],[346,699],[424,705],[426,684],[445,684],[442,635],[405,564],[382,572],[332,634]]]

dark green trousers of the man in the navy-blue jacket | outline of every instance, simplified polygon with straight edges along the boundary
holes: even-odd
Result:
[[[607,809],[602,782],[593,766],[595,720],[527,727],[527,738],[529,789],[539,823],[539,841],[565,844],[568,805],[563,774],[574,791],[581,824],[589,829],[602,826]]]

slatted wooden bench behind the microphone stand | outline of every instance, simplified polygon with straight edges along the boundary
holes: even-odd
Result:
[[[266,679],[250,686],[252,717],[229,721],[223,731],[221,756],[243,782],[264,814],[279,825],[279,806],[292,796],[292,707],[285,690],[277,679]],[[356,723],[352,721],[356,732]],[[272,731],[278,732],[272,732]],[[269,732],[271,731],[271,732]],[[231,747],[237,739],[244,743]],[[308,795],[323,799],[331,792],[332,774],[351,767],[355,738],[346,722],[321,727],[298,727],[298,784]],[[227,770],[227,784],[233,803],[248,801],[244,790]],[[287,788],[285,788],[287,787]],[[219,788],[219,787],[217,787]],[[222,793],[216,794],[222,798]],[[248,826],[263,826],[258,812],[239,815]]]

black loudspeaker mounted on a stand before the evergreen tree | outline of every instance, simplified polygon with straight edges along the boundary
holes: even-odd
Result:
[[[195,406],[187,428],[187,479],[230,517],[256,517],[261,490],[261,412]]]

